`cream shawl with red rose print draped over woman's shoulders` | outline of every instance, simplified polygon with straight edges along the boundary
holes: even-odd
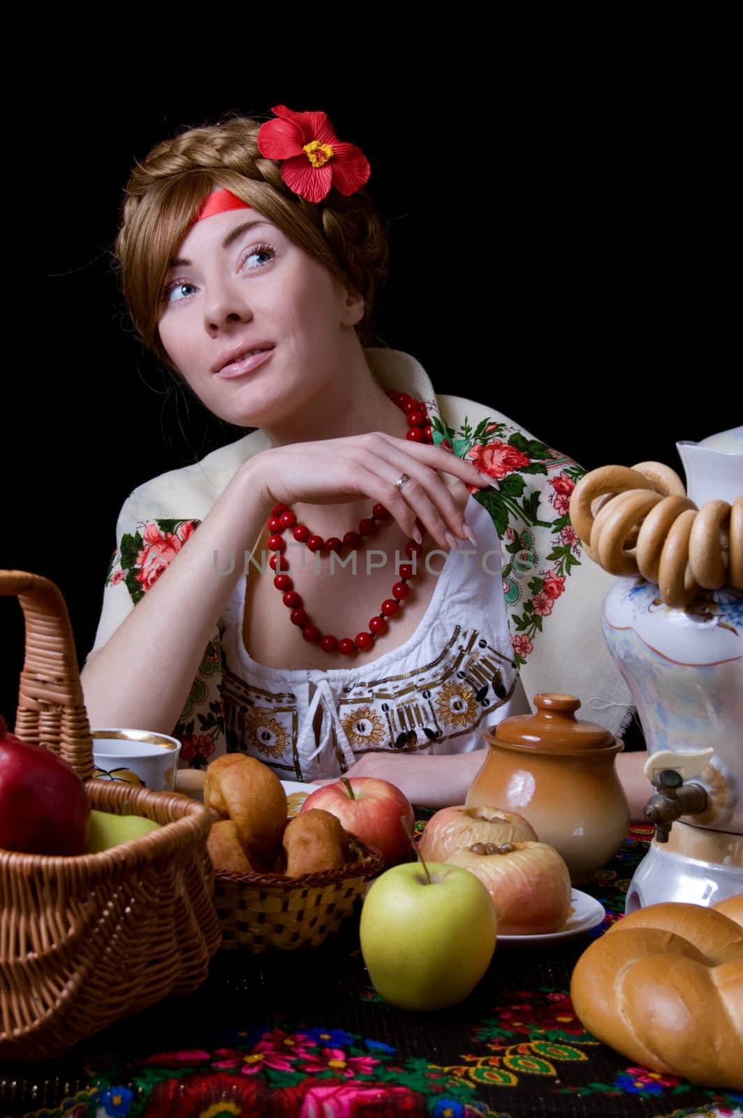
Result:
[[[601,633],[601,604],[612,579],[583,556],[568,513],[583,471],[499,411],[456,396],[437,398],[423,369],[407,354],[368,350],[366,356],[383,388],[426,402],[437,444],[468,457],[498,483],[477,500],[501,539],[514,663],[527,697],[575,694],[584,717],[618,733],[631,697]],[[254,432],[132,493],[118,519],[94,648],[108,641],[188,542],[239,466],[270,445],[263,432]],[[225,750],[218,627],[174,733],[183,742],[182,762],[201,766]]]

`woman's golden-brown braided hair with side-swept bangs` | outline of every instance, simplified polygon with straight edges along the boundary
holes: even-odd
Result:
[[[306,202],[284,183],[280,163],[258,151],[260,122],[234,117],[165,140],[137,163],[126,184],[115,254],[132,320],[170,363],[160,341],[161,293],[175,248],[203,198],[225,187],[273,221],[295,245],[364,299],[360,331],[388,267],[384,225],[364,190],[332,190]]]

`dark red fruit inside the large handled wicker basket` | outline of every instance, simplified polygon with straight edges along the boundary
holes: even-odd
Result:
[[[0,719],[0,849],[84,854],[91,797],[75,769],[19,741]]]

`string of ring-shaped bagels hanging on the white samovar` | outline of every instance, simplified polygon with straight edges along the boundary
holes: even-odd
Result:
[[[657,582],[667,606],[684,609],[725,582],[743,589],[743,495],[697,509],[659,462],[601,466],[573,490],[570,518],[591,559]]]

